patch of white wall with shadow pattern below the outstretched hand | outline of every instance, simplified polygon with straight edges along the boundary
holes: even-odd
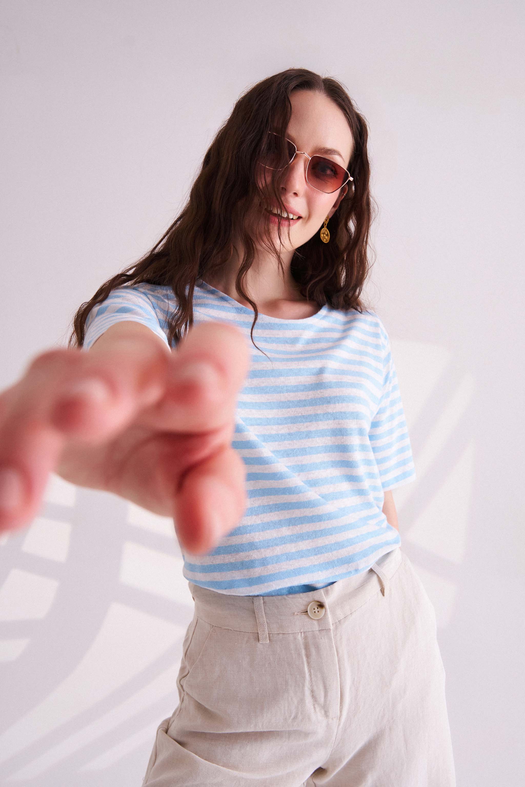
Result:
[[[143,774],[194,607],[172,519],[52,475],[41,515],[2,540],[0,774],[88,785],[139,752]]]

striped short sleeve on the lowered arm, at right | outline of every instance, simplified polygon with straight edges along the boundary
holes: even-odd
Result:
[[[381,321],[379,325],[383,344],[383,393],[368,438],[383,491],[386,492],[414,480],[416,468],[390,339]]]

